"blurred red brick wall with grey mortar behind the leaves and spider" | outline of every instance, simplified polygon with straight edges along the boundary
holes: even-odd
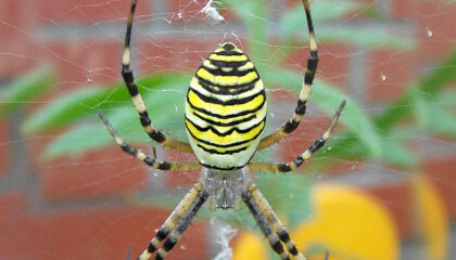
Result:
[[[139,75],[176,69],[192,72],[223,40],[224,35],[217,27],[207,26],[206,20],[199,14],[203,1],[139,2],[132,64]],[[377,109],[388,106],[416,77],[448,54],[456,37],[456,4],[425,0],[365,2],[378,5],[389,17],[388,30],[410,35],[417,43],[416,49],[398,52],[381,47],[369,49],[322,42],[318,76],[343,88],[366,109]],[[37,155],[59,132],[35,136],[24,136],[20,132],[24,116],[59,95],[88,84],[121,80],[118,72],[128,9],[128,0],[2,2],[0,80],[8,82],[43,63],[58,69],[59,79],[55,93],[0,123],[0,258],[125,259],[129,246],[135,257],[169,210],[138,206],[130,198],[182,194],[198,179],[198,172],[155,177],[147,167],[113,147],[43,162]],[[239,29],[236,34],[242,38],[239,20],[229,11],[223,14],[235,30]],[[346,21],[356,27],[363,17],[350,17],[341,23]],[[210,34],[204,37],[188,34],[198,26],[206,26]],[[187,34],[179,34],[183,30]],[[307,55],[307,50],[295,55],[303,56],[297,54]],[[290,57],[290,63],[300,65],[300,69],[305,67],[305,61],[297,61],[295,56]],[[271,105],[277,115],[276,125],[289,117],[278,107],[292,112],[294,104],[294,98],[289,93],[277,96]],[[304,123],[294,132],[293,139],[286,140],[275,150],[280,159],[290,159],[300,152],[299,147],[311,144],[324,128],[326,118],[321,119],[321,115],[311,107],[306,121],[316,125]],[[438,187],[449,219],[455,220],[455,144],[442,136],[423,135],[417,140],[413,145],[420,150],[421,161],[416,170],[370,161],[349,162],[328,172],[325,181],[349,182],[376,196],[391,210],[401,236],[406,239],[418,231],[411,211],[414,198],[404,194],[410,194],[411,176],[422,171]],[[169,153],[168,158],[191,157]],[[354,165],[356,170],[347,170]],[[208,259],[215,248],[211,240],[210,225],[197,219],[169,259]],[[456,239],[452,245],[456,248]],[[409,250],[416,251],[416,248],[405,244],[404,249],[404,259],[414,259],[410,256],[415,253]],[[455,258],[456,252],[452,253],[451,258]]]

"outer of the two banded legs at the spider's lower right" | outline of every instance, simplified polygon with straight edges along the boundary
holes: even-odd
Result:
[[[263,218],[263,220],[266,220],[267,221],[266,224],[268,225],[268,229],[270,230],[270,232],[273,232],[275,238],[276,239],[278,238],[277,240],[275,240],[276,247],[277,247],[277,244],[280,244],[280,242],[281,242],[281,243],[283,243],[283,245],[286,245],[287,251],[292,256],[292,259],[305,260],[305,257],[300,251],[297,251],[296,246],[290,239],[290,235],[288,234],[287,230],[284,229],[282,222],[277,217],[277,214],[274,212],[269,203],[266,200],[266,198],[259,192],[258,187],[254,183],[251,182],[251,183],[249,183],[246,193],[250,195],[250,197],[249,197],[249,200],[251,200],[250,204],[253,204],[256,207],[255,211],[252,211],[252,209],[251,209],[251,212],[254,214],[255,220],[261,219],[261,218]],[[245,202],[245,199],[244,199],[244,202]],[[261,217],[257,217],[258,214],[261,214]],[[258,223],[258,221],[257,221],[257,223]],[[261,224],[258,223],[258,225],[261,225]],[[266,233],[265,233],[265,235],[266,235]],[[271,244],[271,246],[273,246],[273,244]],[[281,244],[280,244],[280,246],[281,246]],[[274,248],[274,246],[273,246],[273,248]],[[284,257],[282,258],[282,256],[280,256],[280,257],[281,257],[281,259],[289,259],[289,258],[284,258]]]

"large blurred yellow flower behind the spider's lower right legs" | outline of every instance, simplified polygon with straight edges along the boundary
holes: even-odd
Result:
[[[315,216],[290,231],[308,259],[330,260],[400,258],[396,227],[388,210],[373,197],[341,184],[318,184],[312,192]],[[267,260],[267,240],[242,233],[233,247],[235,260]]]

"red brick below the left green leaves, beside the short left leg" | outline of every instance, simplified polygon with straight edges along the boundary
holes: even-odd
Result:
[[[79,156],[40,161],[38,156],[52,139],[27,142],[30,169],[38,172],[41,193],[47,199],[80,199],[128,195],[142,190],[150,177],[149,167],[116,146]]]

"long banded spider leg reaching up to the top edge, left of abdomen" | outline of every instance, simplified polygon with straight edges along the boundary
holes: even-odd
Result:
[[[149,134],[149,136],[165,147],[185,153],[192,153],[192,150],[188,143],[172,139],[152,126],[152,121],[149,117],[144,102],[142,101],[141,94],[138,91],[138,87],[135,83],[135,78],[130,69],[130,39],[135,9],[136,0],[132,0],[130,13],[128,15],[127,32],[125,35],[124,55],[122,58],[122,77],[124,78],[125,84],[127,86],[132,103],[135,104],[135,107],[138,110],[142,128]]]

